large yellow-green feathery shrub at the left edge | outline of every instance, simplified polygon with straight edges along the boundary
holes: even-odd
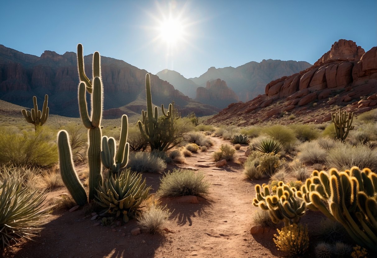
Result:
[[[48,167],[58,161],[56,137],[46,126],[37,132],[0,131],[0,164]]]

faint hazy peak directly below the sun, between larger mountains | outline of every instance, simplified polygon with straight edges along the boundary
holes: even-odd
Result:
[[[182,74],[172,71],[169,69],[164,69],[156,73],[156,75],[161,80],[166,80],[171,85],[174,86],[176,90],[181,91],[181,93],[185,94],[186,96],[195,99],[196,97],[196,88],[199,87],[195,82],[185,78]]]

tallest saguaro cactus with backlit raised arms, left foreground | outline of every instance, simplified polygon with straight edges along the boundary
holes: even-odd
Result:
[[[78,73],[80,77],[80,85],[78,88],[78,104],[80,109],[81,120],[83,121],[84,126],[88,129],[88,138],[89,138],[89,148],[87,151],[88,162],[89,162],[89,200],[93,200],[95,197],[96,189],[102,185],[102,175],[101,175],[101,118],[102,118],[102,91],[103,86],[101,82],[101,69],[100,69],[100,53],[95,52],[93,55],[93,80],[90,81],[84,72],[84,57],[83,57],[83,46],[78,44],[77,46],[77,64],[78,64]],[[86,91],[91,95],[91,108],[92,114],[89,117],[87,103],[86,103]],[[64,145],[68,145],[67,137],[60,137],[61,134],[66,133],[65,131],[60,131],[58,138],[61,138],[60,143],[58,143],[59,156],[61,159],[60,163],[60,172],[62,178],[66,178],[65,174],[70,174],[75,171],[72,171],[73,164],[68,165],[69,162],[62,162],[62,160],[68,160],[70,153],[64,152]],[[77,179],[77,177],[76,177]],[[78,179],[77,179],[78,180]],[[72,189],[70,184],[73,184],[72,181],[64,181],[64,184],[67,185],[68,190]],[[77,185],[77,182],[74,184]],[[75,197],[75,194],[70,191],[72,197]],[[80,195],[75,199],[79,203],[85,203],[87,200],[84,200],[84,196]],[[86,197],[85,197],[86,199]]]

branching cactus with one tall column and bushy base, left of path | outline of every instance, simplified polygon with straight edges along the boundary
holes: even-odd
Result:
[[[147,111],[142,111],[142,121],[138,121],[139,130],[144,139],[150,145],[151,150],[167,151],[172,149],[175,143],[176,115],[179,114],[174,108],[174,101],[169,104],[165,112],[164,104],[161,105],[163,116],[159,118],[158,108],[152,108],[152,93],[150,90],[150,75],[146,74],[146,99]],[[143,128],[144,126],[144,128]]]

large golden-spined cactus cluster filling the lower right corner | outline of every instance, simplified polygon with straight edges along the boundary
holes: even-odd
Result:
[[[338,172],[314,170],[296,196],[340,222],[360,246],[377,245],[377,174],[358,167]]]

